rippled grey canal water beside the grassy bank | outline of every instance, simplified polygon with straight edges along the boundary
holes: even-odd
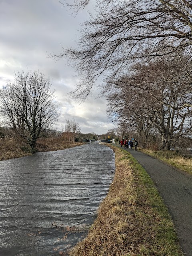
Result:
[[[97,142],[0,161],[0,256],[66,255],[96,218],[114,177]]]

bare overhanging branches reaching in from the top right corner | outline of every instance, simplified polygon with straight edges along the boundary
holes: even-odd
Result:
[[[84,8],[89,0],[65,1]],[[73,94],[86,98],[99,76],[122,74],[132,61],[185,52],[191,57],[192,4],[190,0],[96,0],[97,14],[82,29],[79,47],[63,49],[82,81]],[[188,76],[192,70],[186,72]],[[104,84],[105,86],[105,84]],[[189,88],[189,86],[188,86]],[[191,91],[190,82],[190,91]],[[185,102],[192,106],[191,102]]]

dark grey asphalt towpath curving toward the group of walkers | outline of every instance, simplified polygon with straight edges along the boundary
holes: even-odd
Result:
[[[192,256],[192,175],[139,150],[134,151],[134,148],[126,150],[144,167],[156,184],[172,215],[181,248],[186,256]]]

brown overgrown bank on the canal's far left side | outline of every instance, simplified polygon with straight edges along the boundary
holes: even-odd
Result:
[[[80,146],[84,143],[81,142],[65,142],[62,136],[46,138],[39,140],[36,144],[38,152],[63,150]],[[30,149],[25,143],[22,143],[14,138],[0,139],[0,160],[8,160],[10,158],[18,158],[21,156],[31,155]]]

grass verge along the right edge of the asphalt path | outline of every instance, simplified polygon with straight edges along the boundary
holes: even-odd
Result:
[[[158,158],[167,164],[171,164],[172,166],[188,172],[192,174],[192,155],[183,154],[182,152],[175,151],[152,151],[149,149],[142,149],[141,152],[153,156],[154,158]]]

